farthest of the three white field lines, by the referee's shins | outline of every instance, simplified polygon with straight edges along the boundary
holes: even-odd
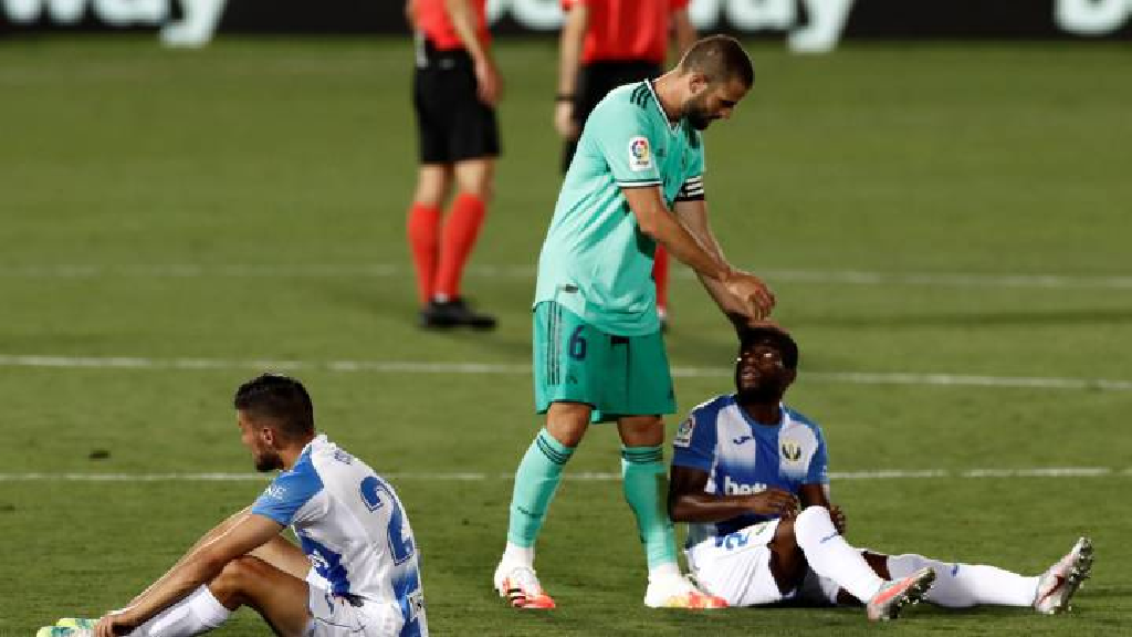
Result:
[[[468,274],[484,278],[531,279],[533,265],[473,265]],[[197,277],[235,278],[333,278],[333,277],[406,277],[408,266],[394,263],[354,265],[26,265],[0,266],[0,278],[9,279],[88,279],[97,277],[139,277],[188,279]],[[686,269],[675,272],[680,279],[693,279]],[[1075,274],[975,274],[962,272],[868,272],[859,270],[761,270],[760,275],[772,282],[841,283],[854,286],[935,286],[958,288],[1089,288],[1132,290],[1132,275]]]

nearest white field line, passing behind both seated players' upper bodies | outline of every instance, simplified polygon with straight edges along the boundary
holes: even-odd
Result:
[[[389,473],[383,474],[393,481],[421,482],[508,482],[514,474],[486,473]],[[1034,478],[1034,477],[1105,477],[1132,476],[1132,467],[1026,467],[985,469],[884,469],[869,472],[831,472],[831,481],[882,481],[914,478]],[[169,474],[98,474],[98,473],[26,473],[0,474],[2,482],[267,482],[271,474],[241,473],[169,473]],[[564,479],[577,482],[620,482],[619,473],[565,473]]]

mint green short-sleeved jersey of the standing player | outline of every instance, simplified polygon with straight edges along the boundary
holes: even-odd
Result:
[[[556,300],[610,334],[660,330],[652,257],[621,188],[662,189],[664,202],[703,198],[703,141],[676,125],[649,80],[615,88],[585,122],[539,255],[535,305]]]

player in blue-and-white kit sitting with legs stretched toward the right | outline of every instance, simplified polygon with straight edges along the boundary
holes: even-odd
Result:
[[[695,408],[674,440],[669,512],[688,523],[685,552],[704,592],[735,606],[859,600],[871,620],[920,598],[1069,610],[1092,566],[1086,537],[1036,577],[850,546],[844,515],[829,500],[822,430],[781,402],[797,345],[770,322],[743,330],[740,341],[736,393]]]

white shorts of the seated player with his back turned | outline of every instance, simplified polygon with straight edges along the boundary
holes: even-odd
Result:
[[[315,569],[307,575],[307,585],[311,620],[305,637],[397,637],[401,634],[404,618],[397,604],[351,602],[333,595],[329,583]]]

